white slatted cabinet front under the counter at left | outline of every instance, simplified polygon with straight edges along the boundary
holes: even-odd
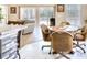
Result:
[[[17,37],[17,31],[0,33],[0,59],[19,59]]]

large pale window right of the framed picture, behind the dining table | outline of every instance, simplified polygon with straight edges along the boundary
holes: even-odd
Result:
[[[66,20],[73,25],[80,25],[80,6],[79,4],[67,4],[66,8]]]

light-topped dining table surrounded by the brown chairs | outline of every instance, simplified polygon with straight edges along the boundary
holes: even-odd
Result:
[[[79,30],[78,26],[74,26],[74,25],[65,25],[65,26],[48,26],[50,31],[52,32],[67,32],[69,33],[73,37],[75,35],[75,33]]]

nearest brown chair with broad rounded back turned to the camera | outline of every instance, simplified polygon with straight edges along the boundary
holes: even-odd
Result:
[[[73,36],[67,32],[52,33],[52,48],[62,56],[69,59],[64,53],[69,53],[73,48]]]

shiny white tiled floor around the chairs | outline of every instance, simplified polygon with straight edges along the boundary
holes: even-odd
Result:
[[[40,28],[35,28],[34,30],[34,39],[31,44],[25,45],[20,50],[21,59],[65,59],[58,54],[48,54],[50,48],[41,50],[43,44],[50,44],[50,42],[44,42],[42,40],[42,34]],[[87,52],[87,46],[83,46]],[[74,54],[66,54],[72,59],[87,59],[87,53],[83,53],[78,47],[74,48]]]

